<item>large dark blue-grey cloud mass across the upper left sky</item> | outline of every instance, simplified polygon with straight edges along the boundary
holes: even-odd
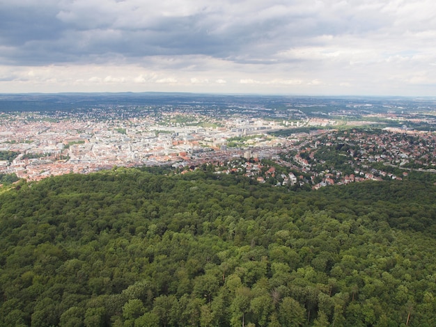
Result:
[[[196,54],[274,63],[271,56],[279,51],[325,33],[362,34],[389,21],[381,5],[352,10],[328,2],[41,0],[36,6],[18,0],[1,16],[3,29],[11,31],[1,43],[15,47],[3,60],[89,63],[111,55],[135,60]]]

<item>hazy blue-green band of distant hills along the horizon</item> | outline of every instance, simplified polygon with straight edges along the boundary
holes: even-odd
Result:
[[[351,97],[201,93],[0,93],[0,111],[71,111],[114,106],[206,106],[211,108],[293,109],[324,116],[338,110],[421,112],[435,106],[435,97]],[[399,110],[399,109],[398,109]]]

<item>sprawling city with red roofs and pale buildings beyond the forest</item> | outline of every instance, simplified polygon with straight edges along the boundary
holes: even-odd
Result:
[[[315,189],[435,173],[431,99],[148,95],[139,103],[118,96],[123,104],[75,109],[65,104],[79,95],[60,104],[32,96],[45,111],[18,110],[29,95],[0,102],[13,108],[1,115],[0,151],[15,154],[0,161],[0,173],[41,180],[114,167],[172,166],[183,173],[210,164],[216,173]],[[93,101],[102,99],[108,101],[101,95]]]

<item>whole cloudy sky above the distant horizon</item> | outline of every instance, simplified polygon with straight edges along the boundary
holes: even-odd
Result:
[[[0,93],[436,95],[433,0],[0,0]]]

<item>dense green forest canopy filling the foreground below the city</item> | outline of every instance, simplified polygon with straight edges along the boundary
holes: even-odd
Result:
[[[436,326],[434,184],[114,168],[8,187],[0,326]]]

